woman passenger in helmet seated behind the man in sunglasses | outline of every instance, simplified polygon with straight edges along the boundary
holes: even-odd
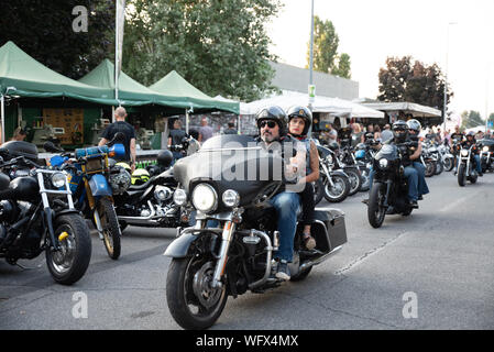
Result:
[[[306,107],[296,106],[289,108],[287,114],[289,135],[304,143],[306,147],[306,176],[299,180],[305,184],[304,191],[300,193],[303,205],[301,223],[304,224],[301,240],[308,250],[314,250],[316,248],[316,240],[310,235],[310,226],[314,221],[314,209],[316,208],[314,204],[312,182],[319,178],[319,154],[316,143],[307,138],[312,122],[312,113]]]

